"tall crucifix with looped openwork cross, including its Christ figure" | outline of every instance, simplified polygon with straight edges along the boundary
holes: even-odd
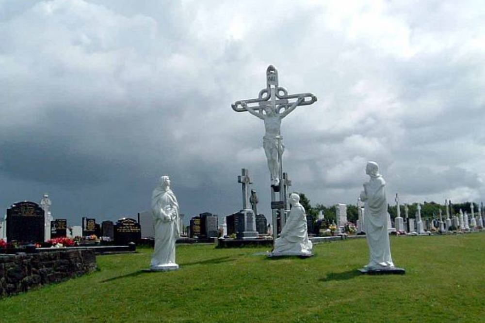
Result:
[[[281,120],[298,106],[315,103],[317,97],[312,93],[288,94],[288,91],[278,86],[278,71],[273,65],[266,69],[266,88],[259,91],[258,98],[238,100],[231,107],[236,112],[249,112],[263,120],[265,134],[263,148],[268,161],[271,178],[271,208],[273,210],[273,237],[277,237],[276,210],[283,215],[285,212],[285,195],[283,193],[282,155],[285,151],[281,136]],[[279,192],[279,200],[275,193]]]

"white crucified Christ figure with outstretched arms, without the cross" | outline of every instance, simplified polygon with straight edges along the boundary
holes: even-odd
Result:
[[[299,97],[296,102],[289,106],[286,106],[283,112],[279,112],[281,106],[276,108],[273,105],[266,105],[264,107],[264,113],[255,111],[254,108],[249,107],[246,102],[242,101],[241,105],[249,113],[258,117],[264,121],[265,134],[263,137],[263,148],[266,158],[268,159],[268,168],[271,174],[271,185],[279,185],[279,159],[278,157],[283,155],[285,151],[285,145],[283,145],[283,137],[281,137],[281,119],[286,117],[293,111],[299,104],[305,101],[305,97]]]

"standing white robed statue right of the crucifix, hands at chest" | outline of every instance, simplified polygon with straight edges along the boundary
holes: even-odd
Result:
[[[364,267],[367,270],[392,269],[388,235],[388,202],[386,200],[386,182],[379,174],[379,166],[368,162],[366,174],[371,177],[364,183],[360,199],[365,202],[364,226],[370,251],[370,261]]]

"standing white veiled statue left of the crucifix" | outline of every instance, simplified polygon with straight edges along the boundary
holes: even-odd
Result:
[[[177,198],[170,189],[170,178],[160,177],[160,184],[153,190],[151,209],[155,227],[155,248],[151,270],[176,270],[175,242],[180,236]]]

